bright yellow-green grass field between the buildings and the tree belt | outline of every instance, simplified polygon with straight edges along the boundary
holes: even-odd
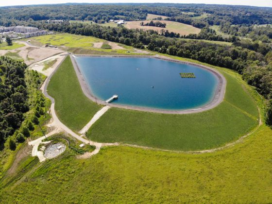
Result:
[[[96,37],[75,34],[52,34],[34,37],[31,38],[31,41],[36,41],[42,45],[51,44],[54,46],[64,46],[69,48],[79,47],[88,49],[93,46],[93,43],[104,42],[105,40]]]

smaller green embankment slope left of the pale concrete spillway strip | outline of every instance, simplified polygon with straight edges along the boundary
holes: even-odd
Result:
[[[52,76],[48,93],[55,99],[58,118],[73,131],[80,131],[101,108],[84,95],[70,57]]]

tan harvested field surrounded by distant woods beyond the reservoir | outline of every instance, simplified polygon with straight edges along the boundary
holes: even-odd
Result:
[[[154,30],[157,32],[160,32],[162,29],[168,30],[169,32],[173,33],[179,33],[181,35],[187,35],[187,34],[198,34],[200,32],[199,28],[195,28],[191,25],[187,25],[184,23],[169,21],[169,20],[160,20],[162,23],[166,23],[166,28],[159,28],[155,26],[141,26],[140,23],[142,21],[128,21],[127,24],[125,24],[126,28],[129,29],[143,29],[143,30]],[[144,23],[150,22],[149,20],[143,21]]]

